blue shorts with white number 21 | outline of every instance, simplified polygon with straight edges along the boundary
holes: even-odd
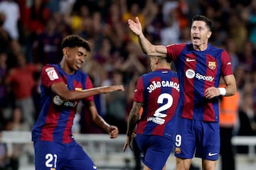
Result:
[[[75,141],[69,144],[34,142],[36,170],[95,170],[92,159]]]

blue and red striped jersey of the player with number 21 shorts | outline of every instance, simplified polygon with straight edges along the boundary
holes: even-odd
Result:
[[[69,75],[60,68],[60,64],[46,64],[41,72],[41,112],[32,129],[32,141],[72,142],[78,101],[64,101],[61,105],[54,103],[56,94],[50,86],[61,81],[72,91],[93,87],[90,77],[80,70]],[[93,96],[85,100],[92,101]]]

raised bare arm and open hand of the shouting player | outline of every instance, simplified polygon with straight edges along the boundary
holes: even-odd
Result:
[[[142,32],[142,23],[139,21],[139,17],[135,18],[135,22],[131,19],[128,20],[129,28],[132,30],[133,33],[138,35],[139,43],[142,47],[143,52],[146,55],[154,55],[159,57],[166,57],[167,50],[164,45],[152,45],[149,40],[147,40]]]

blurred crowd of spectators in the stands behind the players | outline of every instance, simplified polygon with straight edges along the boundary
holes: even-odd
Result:
[[[100,115],[125,133],[136,81],[150,71],[127,20],[139,16],[150,42],[169,45],[190,42],[195,14],[210,18],[210,43],[232,60],[240,93],[236,135],[256,135],[256,0],[1,0],[1,130],[31,130],[41,102],[41,67],[59,62],[62,38],[77,34],[92,47],[82,70],[93,84],[125,86],[124,93],[95,96]],[[81,103],[74,132],[101,133],[87,116]]]

